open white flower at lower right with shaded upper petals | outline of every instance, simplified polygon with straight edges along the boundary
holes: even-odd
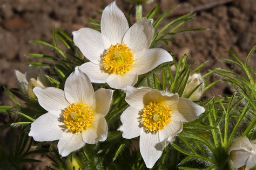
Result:
[[[151,88],[127,86],[130,104],[121,115],[123,137],[140,136],[139,148],[147,168],[152,168],[164,148],[183,129],[182,122],[194,121],[205,109],[178,94]]]

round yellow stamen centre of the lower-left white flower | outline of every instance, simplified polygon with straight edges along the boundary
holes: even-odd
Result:
[[[73,133],[79,133],[91,125],[93,120],[93,111],[86,103],[73,103],[63,112],[64,123]]]

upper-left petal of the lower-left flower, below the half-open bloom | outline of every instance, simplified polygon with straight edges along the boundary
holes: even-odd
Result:
[[[38,103],[47,111],[59,111],[65,109],[70,103],[66,101],[64,91],[54,87],[33,88],[33,93],[38,98]]]

